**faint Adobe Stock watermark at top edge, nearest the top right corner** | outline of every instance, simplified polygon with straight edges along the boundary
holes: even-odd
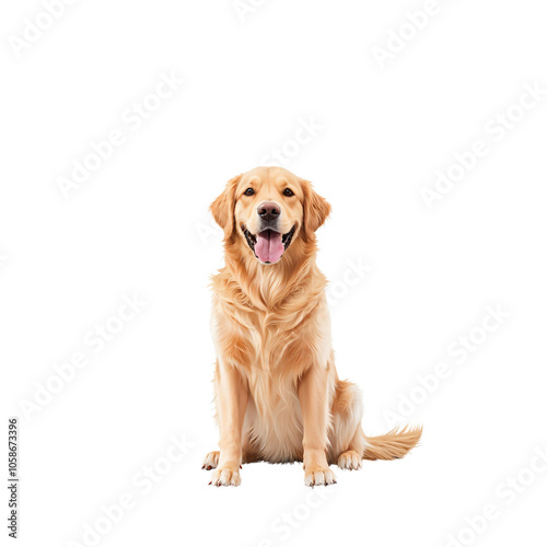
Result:
[[[426,0],[421,10],[407,11],[405,21],[387,31],[385,43],[382,46],[372,46],[372,55],[380,69],[383,70],[387,61],[392,61],[404,51],[429,26],[431,20],[442,12],[443,4],[451,1]]]

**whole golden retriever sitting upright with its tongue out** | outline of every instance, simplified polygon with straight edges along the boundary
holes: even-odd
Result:
[[[224,233],[225,266],[212,277],[220,451],[211,485],[238,486],[242,464],[303,462],[306,486],[336,482],[330,465],[403,457],[421,428],[368,438],[359,388],[339,380],[316,230],[330,205],[281,167],[229,181],[210,211]]]

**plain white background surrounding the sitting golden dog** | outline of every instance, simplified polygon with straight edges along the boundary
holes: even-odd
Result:
[[[80,0],[21,55],[14,37],[44,7],[4,2],[0,359],[4,416],[20,417],[20,545],[90,545],[84,526],[125,493],[133,509],[97,545],[546,542],[547,473],[526,468],[547,443],[547,96],[503,138],[486,125],[526,84],[547,89],[547,13],[537,0],[438,5],[382,69],[373,48],[424,2],[269,0],[242,21],[230,0]],[[133,130],[125,110],[171,72],[185,83]],[[335,469],[323,500],[301,465],[245,466],[241,488],[217,489],[200,470],[218,440],[208,282],[222,248],[207,209],[271,149],[293,151],[310,119],[321,130],[283,166],[333,205],[318,260],[365,431],[389,429],[418,375],[441,362],[452,374],[401,417],[423,423],[420,447]],[[125,142],[66,199],[59,177],[113,129]],[[489,153],[429,209],[421,189],[477,139]],[[371,270],[348,286],[349,260]],[[95,354],[86,333],[133,293],[142,311]],[[488,305],[511,316],[458,364],[449,347]],[[26,417],[22,401],[77,351],[89,365]],[[173,434],[191,447],[144,494],[131,477]],[[513,500],[503,482],[519,474]],[[486,504],[498,517],[465,535]]]

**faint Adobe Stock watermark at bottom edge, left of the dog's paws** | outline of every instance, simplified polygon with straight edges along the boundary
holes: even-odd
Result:
[[[98,516],[82,524],[82,534],[78,540],[69,539],[67,547],[94,547],[117,526],[128,512],[133,511],[140,500],[149,494],[176,465],[190,452],[195,443],[185,435],[171,435],[170,445],[164,455],[156,457],[150,465],[144,465],[131,476],[131,486],[117,496],[114,502],[102,504]]]

